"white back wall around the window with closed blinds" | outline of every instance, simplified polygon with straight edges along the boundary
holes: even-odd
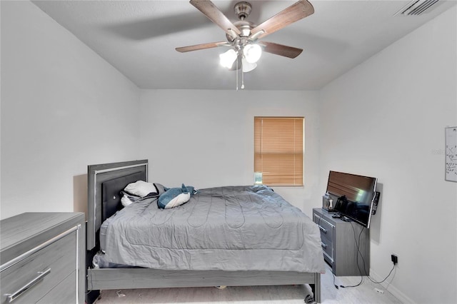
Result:
[[[305,117],[304,187],[275,187],[311,215],[319,206],[318,93],[313,91],[143,90],[141,158],[149,178],[196,188],[253,183],[253,117]]]

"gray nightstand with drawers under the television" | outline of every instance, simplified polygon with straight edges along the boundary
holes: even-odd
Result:
[[[323,208],[313,208],[313,221],[321,230],[323,259],[334,275],[369,275],[370,230],[353,221],[333,218],[333,214]]]

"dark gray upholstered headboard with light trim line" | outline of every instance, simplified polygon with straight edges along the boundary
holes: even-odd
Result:
[[[121,208],[119,192],[134,181],[147,181],[148,160],[102,163],[87,167],[87,250],[96,245],[101,223]],[[104,193],[105,192],[105,193]]]

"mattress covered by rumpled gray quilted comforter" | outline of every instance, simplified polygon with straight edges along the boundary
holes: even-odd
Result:
[[[164,270],[323,273],[311,218],[266,186],[199,189],[182,206],[157,198],[118,211],[101,226],[104,265]]]

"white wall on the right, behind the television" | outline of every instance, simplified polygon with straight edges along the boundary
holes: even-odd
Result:
[[[444,181],[444,128],[457,125],[457,9],[321,91],[321,176],[376,176],[371,270],[414,303],[457,303],[457,183]],[[324,178],[321,189],[325,189]]]

